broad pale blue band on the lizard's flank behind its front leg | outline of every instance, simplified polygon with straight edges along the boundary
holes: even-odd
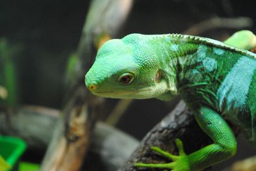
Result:
[[[237,61],[218,89],[220,112],[234,115],[234,111],[243,107],[255,69],[254,59],[244,56]]]

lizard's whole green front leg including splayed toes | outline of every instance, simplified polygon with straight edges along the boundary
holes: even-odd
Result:
[[[223,160],[227,160],[236,154],[236,138],[220,114],[211,108],[202,107],[196,112],[195,118],[202,130],[211,137],[214,142],[213,144],[186,155],[183,152],[182,143],[178,140],[179,156],[174,156],[157,147],[153,147],[152,150],[170,158],[173,162],[166,164],[136,163],[135,166],[169,168],[175,171],[202,170],[216,163],[220,163]]]

